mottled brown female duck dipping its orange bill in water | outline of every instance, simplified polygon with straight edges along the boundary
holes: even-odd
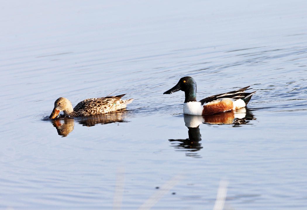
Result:
[[[63,111],[66,116],[72,117],[107,114],[111,111],[117,111],[126,108],[127,104],[132,102],[133,99],[120,99],[125,95],[85,99],[78,103],[75,108],[72,108],[72,103],[67,98],[60,97],[54,102],[54,108],[49,118],[55,118],[60,111]]]

